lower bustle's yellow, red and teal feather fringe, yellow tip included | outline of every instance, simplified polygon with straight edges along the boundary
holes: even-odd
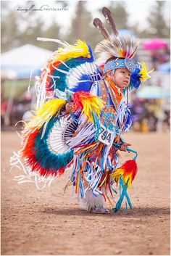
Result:
[[[54,143],[53,134],[56,134],[52,129],[57,129],[59,111],[65,104],[63,99],[44,103],[41,109],[36,110],[36,116],[26,124],[23,131],[22,157],[26,165],[41,176],[60,176],[72,161],[72,150],[67,149],[60,154],[55,150],[56,146],[51,147]]]

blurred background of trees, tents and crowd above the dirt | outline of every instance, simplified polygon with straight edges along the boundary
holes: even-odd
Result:
[[[170,1],[1,1],[1,129],[14,129],[36,102],[35,76],[59,45],[37,41],[80,38],[92,48],[103,39],[93,27],[108,7],[120,35],[140,38],[135,56],[154,68],[151,79],[130,94],[132,131],[170,131]],[[108,26],[107,26],[108,28]],[[29,86],[29,91],[28,91]]]

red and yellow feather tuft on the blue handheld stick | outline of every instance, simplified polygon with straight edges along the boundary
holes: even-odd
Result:
[[[128,187],[131,187],[137,170],[135,160],[128,160],[122,166],[120,166],[120,168],[117,168],[114,173],[112,173],[111,178],[117,183],[120,181],[120,178],[122,178],[125,186],[128,185]]]

